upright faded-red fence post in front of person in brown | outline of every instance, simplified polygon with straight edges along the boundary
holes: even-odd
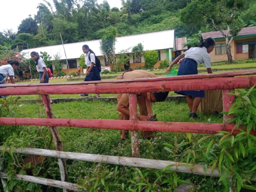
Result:
[[[137,95],[129,94],[130,120],[137,121]],[[138,131],[131,131],[131,150],[132,157],[140,157],[139,135]]]

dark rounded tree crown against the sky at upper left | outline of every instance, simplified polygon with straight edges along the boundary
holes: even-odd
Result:
[[[22,23],[19,24],[18,27],[18,33],[30,33],[30,34],[37,34],[37,29],[38,29],[38,25],[37,25],[37,21],[35,19],[33,19],[31,17],[31,15],[29,15],[28,18],[23,19]]]

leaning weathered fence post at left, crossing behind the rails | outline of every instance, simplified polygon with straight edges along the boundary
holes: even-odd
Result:
[[[49,95],[42,95],[42,99],[44,102],[46,117],[49,119],[54,119],[51,100]],[[51,126],[50,130],[53,136],[56,149],[59,151],[63,151],[63,146],[62,146],[58,128],[56,126]],[[61,181],[68,181],[67,165],[66,165],[65,159],[58,159],[58,164],[60,169]],[[63,189],[63,192],[66,192],[66,189]]]

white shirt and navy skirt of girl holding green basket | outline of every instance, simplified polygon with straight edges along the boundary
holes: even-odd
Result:
[[[211,57],[207,53],[207,48],[205,47],[191,47],[185,51],[184,60],[181,62],[178,76],[179,75],[194,75],[198,74],[197,65],[204,63],[205,68],[211,68]],[[203,90],[195,91],[174,91],[174,93],[181,95],[190,95],[193,97],[204,97]]]

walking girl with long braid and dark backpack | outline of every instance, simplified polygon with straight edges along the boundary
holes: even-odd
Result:
[[[87,65],[86,68],[86,75],[84,81],[98,81],[101,80],[100,72],[98,71],[96,64],[95,64],[95,53],[89,48],[88,45],[83,45],[82,50],[85,56],[85,64]],[[90,55],[90,59],[89,59]],[[83,97],[89,97],[87,93],[80,94]],[[93,97],[100,97],[99,94],[93,95]]]

